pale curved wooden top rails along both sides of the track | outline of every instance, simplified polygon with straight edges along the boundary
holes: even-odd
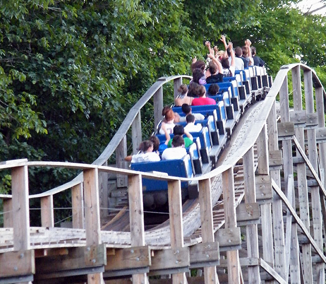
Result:
[[[273,82],[272,87],[270,88],[268,95],[266,96],[265,100],[259,102],[261,104],[261,109],[260,109],[260,115],[259,115],[259,120],[255,120],[255,127],[252,127],[249,132],[246,133],[246,144],[242,145],[240,148],[237,148],[235,153],[231,155],[230,157],[227,158],[226,162],[224,165],[214,169],[213,171],[206,173],[200,177],[196,178],[179,178],[179,177],[171,177],[171,176],[166,176],[166,175],[160,175],[160,174],[148,174],[148,173],[141,173],[142,176],[146,178],[158,178],[158,179],[163,179],[163,180],[180,180],[180,181],[200,181],[200,180],[205,180],[208,178],[212,178],[214,176],[217,176],[226,170],[230,169],[233,167],[238,160],[243,157],[245,153],[248,152],[248,150],[253,147],[255,141],[257,140],[257,137],[264,126],[268,114],[270,112],[270,109],[272,107],[272,103],[275,100],[275,97],[277,96],[278,92],[280,91],[280,88],[283,84],[283,81],[285,77],[287,76],[287,73],[292,70],[293,68],[300,66],[301,69],[305,71],[312,71],[312,79],[317,87],[321,87],[323,91],[324,98],[326,97],[326,92],[324,88],[321,85],[321,82],[319,78],[317,77],[315,71],[311,69],[310,67],[303,65],[301,63],[294,63],[294,64],[289,64],[289,65],[283,65],[280,68],[280,71],[277,73],[275,80]],[[106,172],[111,172],[111,173],[116,173],[116,174],[126,174],[126,175],[137,175],[140,174],[140,172],[137,171],[132,171],[132,170],[126,170],[126,169],[117,169],[113,167],[105,167],[101,166],[103,165],[107,159],[111,157],[113,152],[115,151],[116,147],[126,135],[128,129],[130,128],[133,120],[135,119],[137,113],[139,110],[145,105],[145,103],[153,96],[153,94],[165,83],[172,81],[174,79],[178,78],[191,78],[190,76],[187,75],[177,75],[177,76],[171,76],[171,77],[164,77],[158,79],[145,93],[144,95],[137,101],[137,103],[130,109],[129,113],[127,114],[126,118],[120,125],[119,129],[113,136],[113,138],[110,140],[109,144],[107,147],[104,149],[102,154],[92,163],[92,165],[88,164],[79,164],[79,163],[65,163],[65,162],[28,162],[26,163],[28,166],[40,166],[40,167],[63,167],[63,168],[74,168],[74,169],[87,169],[87,168],[98,168],[101,171],[106,171]],[[235,146],[237,147],[237,146]],[[21,165],[21,163],[20,163]],[[13,164],[11,165],[0,165],[0,169],[4,168],[11,168],[14,167]],[[59,193],[61,191],[64,191],[66,189],[69,189],[73,187],[74,185],[79,184],[82,182],[82,173],[80,173],[77,177],[75,177],[72,181],[63,184],[59,187],[53,188],[49,191],[43,192],[41,194],[35,194],[35,195],[30,195],[30,198],[38,198],[38,197],[44,197],[48,195],[53,195],[56,193]],[[7,196],[7,195],[6,195]]]

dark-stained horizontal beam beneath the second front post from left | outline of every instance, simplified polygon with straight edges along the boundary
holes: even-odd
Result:
[[[35,259],[36,274],[58,273],[64,270],[104,266],[105,244],[69,248],[68,254],[38,257]]]

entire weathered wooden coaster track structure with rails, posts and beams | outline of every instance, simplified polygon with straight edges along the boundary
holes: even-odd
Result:
[[[176,91],[183,78],[189,79],[158,79],[92,165],[26,159],[0,164],[12,173],[11,194],[0,195],[0,283],[325,283],[325,91],[314,71],[302,64],[282,66],[211,172],[188,179],[127,169],[126,134],[131,128],[132,145],[139,144],[141,108],[153,97],[157,122],[162,87],[173,81]],[[107,166],[113,153],[116,167]],[[81,174],[29,195],[31,167]],[[128,211],[119,213],[128,212],[127,230],[100,229],[109,175],[128,188]],[[146,231],[143,177],[168,181],[169,196],[169,220]],[[182,204],[182,181],[199,183],[198,199]],[[68,191],[72,228],[56,227],[54,199]],[[29,199],[40,200],[38,227],[30,224]]]

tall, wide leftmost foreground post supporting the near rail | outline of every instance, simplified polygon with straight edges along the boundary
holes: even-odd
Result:
[[[30,249],[28,168],[12,169],[14,250]]]

